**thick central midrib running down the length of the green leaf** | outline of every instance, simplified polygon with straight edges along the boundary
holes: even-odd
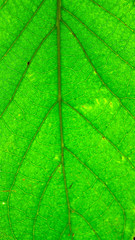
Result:
[[[60,136],[61,136],[61,163],[63,169],[63,178],[68,206],[68,223],[70,234],[72,234],[71,230],[71,210],[70,210],[70,202],[67,190],[67,182],[66,182],[66,174],[65,174],[65,166],[64,166],[64,139],[63,139],[63,125],[62,125],[62,93],[61,93],[61,0],[57,0],[57,57],[58,57],[58,104],[59,104],[59,119],[60,119]]]

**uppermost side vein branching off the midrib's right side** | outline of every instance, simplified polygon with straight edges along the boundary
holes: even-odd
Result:
[[[70,14],[72,17],[77,19],[78,22],[80,22],[90,33],[92,33],[96,38],[98,38],[101,42],[104,43],[106,47],[108,47],[118,58],[120,58],[123,62],[125,62],[128,66],[130,66],[132,69],[135,69],[134,66],[132,66],[128,61],[123,59],[117,52],[115,52],[102,38],[100,38],[95,32],[93,32],[85,23],[83,23],[78,17],[76,17],[73,13],[71,13],[69,10],[66,8],[62,7],[62,9]]]

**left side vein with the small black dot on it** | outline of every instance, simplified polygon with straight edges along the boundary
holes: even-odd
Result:
[[[21,83],[22,83],[22,80],[24,79],[24,76],[25,76],[28,68],[30,67],[30,64],[31,64],[32,60],[34,59],[35,55],[37,54],[38,50],[40,49],[40,47],[42,46],[42,44],[44,43],[44,41],[50,36],[50,34],[51,34],[55,29],[56,29],[56,26],[54,26],[54,27],[51,29],[51,31],[42,39],[42,41],[40,42],[39,46],[38,46],[37,49],[35,50],[34,54],[32,55],[32,57],[31,57],[31,59],[30,59],[30,61],[29,61],[29,64],[28,64],[27,67],[25,68],[25,70],[24,70],[24,72],[23,72],[23,74],[22,74],[22,77],[20,78],[19,83],[17,84],[17,86],[16,86],[16,88],[15,88],[15,91],[14,91],[12,97],[10,98],[7,106],[5,107],[5,109],[3,110],[3,112],[1,113],[0,118],[3,116],[3,114],[5,113],[5,111],[7,110],[7,108],[9,107],[9,105],[11,104],[11,102],[13,101],[13,99],[14,99],[14,97],[15,97],[15,95],[16,95],[16,92],[18,91],[18,89],[19,89],[19,87],[20,87],[20,85],[21,85]]]

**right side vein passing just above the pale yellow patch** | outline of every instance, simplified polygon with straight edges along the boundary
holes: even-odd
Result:
[[[93,65],[93,63],[90,60],[90,57],[88,56],[88,54],[86,53],[82,43],[80,42],[80,40],[78,39],[78,37],[75,35],[75,33],[72,31],[72,29],[67,25],[67,23],[64,22],[63,19],[61,19],[61,22],[67,27],[67,29],[73,34],[73,36],[75,37],[75,39],[77,40],[77,42],[79,43],[80,47],[82,48],[87,60],[89,61],[89,63],[91,64],[93,70],[95,71],[95,73],[97,74],[97,76],[99,77],[100,81],[102,82],[102,84],[106,87],[106,89],[115,97],[117,98],[117,100],[119,101],[120,105],[125,109],[125,111],[135,120],[135,117],[132,115],[132,113],[123,105],[123,103],[121,102],[120,98],[108,87],[108,85],[103,81],[103,79],[101,78],[100,74],[97,72],[95,66]]]

